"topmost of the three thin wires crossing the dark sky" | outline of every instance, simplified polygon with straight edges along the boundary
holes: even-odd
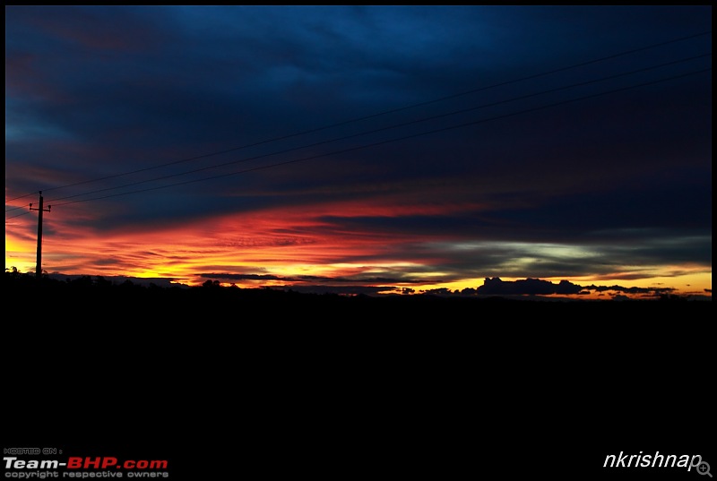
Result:
[[[517,83],[517,82],[524,82],[524,81],[528,81],[528,80],[533,80],[533,79],[540,78],[540,77],[543,77],[543,76],[547,76],[547,75],[550,75],[550,74],[553,74],[553,73],[566,72],[566,71],[568,71],[568,70],[572,70],[572,69],[575,69],[575,68],[578,68],[578,67],[582,67],[582,66],[586,66],[586,65],[589,65],[589,64],[597,64],[597,63],[600,63],[600,62],[604,62],[604,61],[606,61],[606,60],[618,58],[618,57],[620,57],[620,56],[626,56],[626,55],[630,55],[630,54],[635,54],[635,53],[637,53],[637,52],[642,52],[642,51],[649,50],[649,49],[656,48],[656,47],[663,47],[663,46],[670,45],[670,44],[673,44],[673,43],[678,43],[678,42],[681,42],[681,41],[686,41],[686,40],[688,40],[688,39],[696,39],[696,38],[699,38],[699,37],[704,37],[705,35],[709,35],[709,34],[711,34],[711,33],[712,33],[712,30],[706,30],[706,31],[703,31],[703,32],[700,32],[700,33],[695,33],[694,35],[689,35],[689,36],[687,36],[687,37],[681,37],[681,38],[678,38],[678,39],[666,40],[666,41],[664,41],[664,42],[652,44],[652,45],[645,46],[645,47],[637,47],[637,48],[633,48],[633,49],[626,50],[626,51],[623,51],[623,52],[618,52],[617,54],[612,54],[612,55],[609,55],[609,56],[602,56],[602,57],[599,57],[599,58],[595,58],[595,59],[592,59],[592,60],[588,60],[588,61],[586,61],[586,62],[581,62],[581,63],[578,63],[578,64],[571,64],[571,65],[567,65],[567,66],[564,66],[564,67],[559,67],[559,68],[557,68],[557,69],[549,70],[549,71],[546,71],[546,72],[535,73],[535,74],[528,75],[528,76],[525,76],[525,77],[520,77],[520,78],[514,79],[514,80],[509,80],[509,81],[505,81],[505,82],[498,82],[498,83],[495,83],[495,84],[492,84],[492,85],[488,85],[488,86],[485,86],[485,87],[480,87],[480,88],[478,88],[478,89],[467,90],[467,91],[464,91],[464,92],[461,92],[461,93],[455,93],[455,94],[448,95],[448,96],[445,96],[445,97],[442,97],[442,98],[432,99],[432,100],[428,100],[428,101],[425,101],[425,102],[420,102],[420,103],[417,103],[417,104],[411,104],[411,105],[405,106],[405,107],[398,107],[398,108],[394,108],[394,109],[391,109],[391,110],[386,110],[386,111],[384,111],[384,112],[380,112],[380,113],[373,114],[373,115],[369,115],[369,116],[362,116],[362,117],[358,117],[358,118],[353,118],[353,119],[346,120],[346,121],[339,122],[339,123],[332,124],[332,125],[324,125],[323,127],[317,127],[317,128],[315,128],[315,129],[310,129],[310,130],[303,131],[303,132],[298,132],[298,133],[289,133],[289,134],[287,134],[287,135],[282,135],[282,136],[280,136],[280,137],[274,137],[274,138],[271,138],[271,139],[266,139],[266,140],[263,140],[263,141],[260,141],[260,142],[254,142],[254,143],[250,143],[250,144],[246,144],[246,145],[243,145],[243,146],[234,147],[234,148],[230,148],[230,149],[226,149],[226,150],[218,150],[218,151],[215,151],[215,152],[211,152],[211,153],[207,153],[207,154],[203,154],[203,155],[199,155],[199,156],[195,156],[195,157],[191,157],[191,158],[187,158],[187,159],[179,159],[179,160],[175,160],[175,161],[168,162],[168,163],[165,163],[165,164],[160,164],[160,165],[152,166],[152,167],[144,167],[144,168],[141,168],[141,169],[137,169],[137,170],[133,170],[133,171],[128,171],[128,172],[125,172],[125,173],[120,173],[120,174],[116,174],[116,175],[112,175],[112,176],[104,176],[104,177],[99,177],[99,178],[95,178],[95,179],[91,179],[91,180],[85,180],[85,181],[82,181],[82,182],[77,182],[77,183],[74,183],[74,184],[61,185],[61,186],[56,186],[56,187],[49,187],[49,188],[43,189],[43,191],[47,193],[48,191],[53,191],[53,190],[58,190],[58,189],[63,189],[63,188],[68,188],[68,187],[73,187],[73,186],[76,186],[76,185],[90,184],[90,183],[93,183],[93,182],[99,182],[99,181],[102,181],[102,180],[108,180],[108,179],[111,179],[111,178],[116,178],[116,177],[119,177],[119,176],[129,176],[129,175],[138,174],[138,173],[141,173],[141,172],[145,172],[145,171],[152,170],[152,169],[156,169],[156,168],[160,168],[160,167],[168,167],[168,166],[177,165],[177,164],[184,163],[184,162],[188,162],[188,161],[192,161],[192,160],[205,159],[205,158],[208,158],[208,157],[212,157],[212,156],[216,156],[216,155],[220,155],[220,154],[224,154],[224,153],[229,153],[229,152],[236,151],[236,150],[243,150],[243,149],[247,149],[247,148],[250,148],[250,147],[256,147],[256,146],[263,145],[263,144],[269,143],[269,142],[279,142],[279,141],[281,141],[281,140],[286,140],[286,139],[289,139],[289,138],[298,137],[298,136],[300,136],[300,135],[306,135],[306,134],[308,134],[308,133],[322,132],[322,131],[324,131],[324,130],[328,130],[328,129],[331,129],[331,128],[334,128],[334,127],[338,127],[338,126],[341,126],[341,125],[349,125],[349,124],[356,123],[356,122],[360,122],[360,121],[363,121],[363,120],[368,120],[368,119],[371,119],[371,118],[376,118],[376,117],[378,117],[378,116],[385,116],[385,115],[388,115],[388,114],[393,114],[393,113],[401,112],[401,111],[404,111],[404,110],[409,110],[409,109],[411,109],[411,108],[423,107],[423,106],[426,106],[426,105],[434,104],[434,103],[441,102],[441,101],[445,101],[445,100],[448,100],[448,99],[456,99],[456,98],[459,98],[459,97],[462,97],[462,96],[465,96],[465,95],[470,95],[470,94],[472,94],[472,93],[477,93],[477,92],[480,92],[480,91],[495,89],[495,88],[497,88],[497,87],[504,87],[504,86],[506,86],[506,85],[510,85],[510,84]],[[30,195],[34,195],[34,194],[36,194],[37,192],[38,192],[38,191],[35,191],[35,192],[33,192],[33,193],[26,193],[26,194],[23,194],[23,195],[21,195],[21,196],[14,197],[13,199],[10,199],[10,200],[5,201],[5,202],[13,202],[14,200],[22,199],[23,197],[27,197],[27,196],[30,196]],[[66,198],[66,197],[65,197],[65,198]]]

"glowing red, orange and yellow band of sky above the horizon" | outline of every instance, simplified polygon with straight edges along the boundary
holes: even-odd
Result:
[[[360,211],[358,207],[356,212]],[[324,210],[336,213],[335,206],[332,209],[324,206],[319,212]],[[35,271],[37,245],[34,231],[37,228],[32,225],[33,222],[28,218],[26,224],[18,224],[17,228],[13,226],[10,232],[6,229],[6,269],[14,266],[22,272]],[[307,219],[305,206],[296,210],[263,210],[204,218],[182,226],[135,226],[129,231],[56,228],[51,232],[52,235],[43,239],[43,270],[66,275],[173,278],[181,279],[180,282],[188,285],[201,285],[206,278],[199,276],[206,273],[233,272],[259,277],[235,282],[246,287],[288,286],[292,284],[291,279],[302,276],[323,278],[325,282],[337,279],[336,283],[347,278],[405,278],[412,279],[412,282],[395,280],[392,284],[397,288],[414,289],[415,292],[479,288],[485,277],[494,277],[450,280],[454,279],[453,272],[431,271],[431,266],[421,262],[386,259],[384,253],[400,248],[404,242],[414,242],[414,239],[370,232],[336,234],[331,228],[326,228],[323,221],[311,217]],[[436,242],[428,245],[467,253],[489,246],[483,242]],[[514,247],[516,253],[528,253],[513,258],[511,265],[506,266],[511,272],[523,271],[517,269],[518,265],[525,271],[531,271],[540,257],[534,254],[538,253],[570,259],[594,254],[570,245],[505,245]],[[353,259],[364,261],[350,262]],[[370,262],[370,259],[380,260]],[[270,279],[272,276],[280,279]],[[222,283],[229,285],[230,277],[222,279]],[[500,277],[505,281],[525,279]],[[712,271],[705,271],[704,266],[625,266],[622,271],[605,276],[540,279],[555,284],[565,279],[582,287],[594,284],[603,287],[674,288],[675,294],[712,296]],[[296,282],[297,285],[308,283],[311,279]]]

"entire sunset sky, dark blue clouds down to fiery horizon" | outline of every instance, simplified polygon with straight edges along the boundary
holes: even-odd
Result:
[[[711,67],[708,5],[6,5],[5,268],[42,191],[48,273],[712,296]]]

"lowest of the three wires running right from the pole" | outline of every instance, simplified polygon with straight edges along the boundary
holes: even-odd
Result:
[[[695,74],[697,74],[697,73],[709,72],[709,71],[711,71],[711,70],[712,70],[712,67],[709,67],[709,68],[705,68],[705,69],[698,70],[698,71],[695,71],[695,72],[681,73],[681,74],[679,74],[679,75],[673,75],[673,76],[671,76],[671,77],[663,78],[663,79],[656,80],[656,81],[652,81],[652,82],[643,82],[643,83],[639,83],[639,84],[636,84],[636,85],[630,85],[630,86],[627,86],[627,87],[621,87],[621,88],[619,88],[619,89],[614,89],[614,90],[607,90],[607,91],[604,91],[604,92],[595,93],[595,94],[591,94],[591,95],[586,95],[586,96],[578,97],[578,98],[575,98],[575,99],[567,99],[567,100],[563,100],[563,101],[556,102],[556,103],[549,104],[549,105],[545,105],[545,106],[528,108],[528,109],[521,110],[521,111],[519,111],[519,112],[514,112],[514,113],[511,113],[511,114],[505,114],[505,115],[502,115],[502,116],[494,116],[494,117],[490,117],[490,118],[486,118],[486,119],[475,120],[475,121],[466,122],[466,123],[463,123],[463,124],[460,124],[460,125],[452,125],[452,126],[449,126],[449,127],[443,127],[443,128],[440,128],[440,129],[435,129],[435,130],[431,130],[431,131],[427,131],[427,132],[422,132],[422,133],[413,133],[413,134],[410,134],[410,135],[405,135],[405,136],[402,136],[402,137],[398,137],[398,138],[394,138],[394,139],[389,139],[389,140],[385,140],[385,141],[381,141],[381,142],[373,142],[373,143],[368,143],[368,144],[365,144],[365,145],[358,145],[358,146],[356,146],[356,147],[351,147],[351,148],[349,148],[349,149],[335,150],[335,151],[333,151],[333,152],[327,152],[327,153],[318,154],[318,155],[314,155],[314,156],[310,156],[310,157],[305,157],[305,158],[300,158],[300,159],[287,160],[287,161],[279,162],[279,163],[276,163],[276,164],[270,164],[270,165],[266,165],[266,166],[259,166],[259,167],[247,168],[247,169],[245,169],[245,170],[239,170],[239,171],[236,171],[236,172],[229,172],[229,173],[227,173],[227,174],[221,174],[221,175],[219,175],[219,176],[204,177],[204,178],[201,178],[201,179],[188,180],[188,181],[180,182],[180,183],[177,183],[177,184],[160,185],[160,186],[150,187],[150,188],[147,188],[147,189],[141,189],[141,190],[132,191],[132,192],[115,193],[115,194],[111,194],[111,195],[105,195],[105,196],[102,196],[102,197],[94,197],[94,198],[91,198],[91,199],[83,199],[83,200],[80,200],[80,201],[73,201],[73,202],[63,202],[63,203],[54,204],[54,205],[56,205],[56,206],[62,206],[62,205],[68,205],[68,204],[73,204],[73,203],[80,203],[80,202],[98,201],[98,200],[101,200],[101,199],[108,199],[108,198],[110,198],[110,197],[118,197],[118,196],[121,196],[121,195],[129,195],[129,194],[132,194],[132,193],[149,192],[149,191],[164,189],[164,188],[168,188],[168,187],[174,187],[174,186],[177,186],[177,185],[194,184],[194,183],[196,183],[196,182],[203,182],[203,181],[213,180],[213,179],[217,179],[217,178],[221,178],[221,177],[236,176],[236,175],[238,175],[238,174],[244,174],[244,173],[246,173],[246,172],[252,172],[252,171],[255,171],[255,170],[262,170],[262,169],[264,169],[264,168],[279,167],[279,166],[284,166],[284,165],[288,165],[288,164],[294,164],[294,163],[298,163],[298,162],[303,162],[303,161],[306,161],[306,160],[319,159],[319,158],[322,158],[322,157],[328,157],[328,156],[331,156],[331,155],[337,155],[337,154],[341,154],[341,153],[346,153],[346,152],[350,152],[350,151],[363,150],[363,149],[367,149],[367,148],[369,148],[369,147],[376,147],[376,146],[378,146],[378,145],[384,145],[384,144],[386,144],[386,143],[399,142],[399,141],[404,141],[404,140],[412,139],[412,138],[415,138],[415,137],[419,137],[419,136],[422,136],[422,135],[428,135],[428,134],[430,134],[430,133],[445,132],[445,131],[448,131],[448,130],[453,130],[453,129],[456,129],[456,128],[466,127],[466,126],[469,126],[469,125],[478,125],[478,124],[482,124],[482,123],[485,123],[485,122],[490,122],[490,121],[493,121],[493,120],[498,120],[498,119],[502,119],[502,118],[506,118],[506,117],[510,117],[510,116],[518,116],[518,115],[522,115],[522,114],[527,114],[527,113],[531,113],[531,112],[536,112],[536,111],[538,111],[538,110],[543,110],[543,109],[549,108],[549,107],[557,107],[557,106],[561,106],[561,105],[566,105],[566,104],[568,104],[568,103],[572,103],[572,102],[575,102],[575,101],[578,101],[578,100],[593,99],[593,98],[596,98],[596,97],[601,97],[601,96],[603,96],[603,95],[608,95],[608,94],[610,94],[610,93],[616,93],[616,92],[625,91],[625,90],[632,90],[632,89],[636,89],[636,88],[639,88],[639,87],[646,87],[646,86],[654,85],[654,84],[661,83],[661,82],[667,82],[667,81],[670,81],[670,80],[676,80],[676,79],[679,79],[679,78],[684,78],[684,77],[687,77],[687,76],[689,76],[689,75],[695,75]]]

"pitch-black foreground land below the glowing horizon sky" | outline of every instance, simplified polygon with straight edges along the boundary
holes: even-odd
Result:
[[[711,301],[8,275],[3,294],[11,446],[167,459],[170,479],[193,480],[257,467],[266,479],[698,477],[602,467],[621,452],[717,464]]]

